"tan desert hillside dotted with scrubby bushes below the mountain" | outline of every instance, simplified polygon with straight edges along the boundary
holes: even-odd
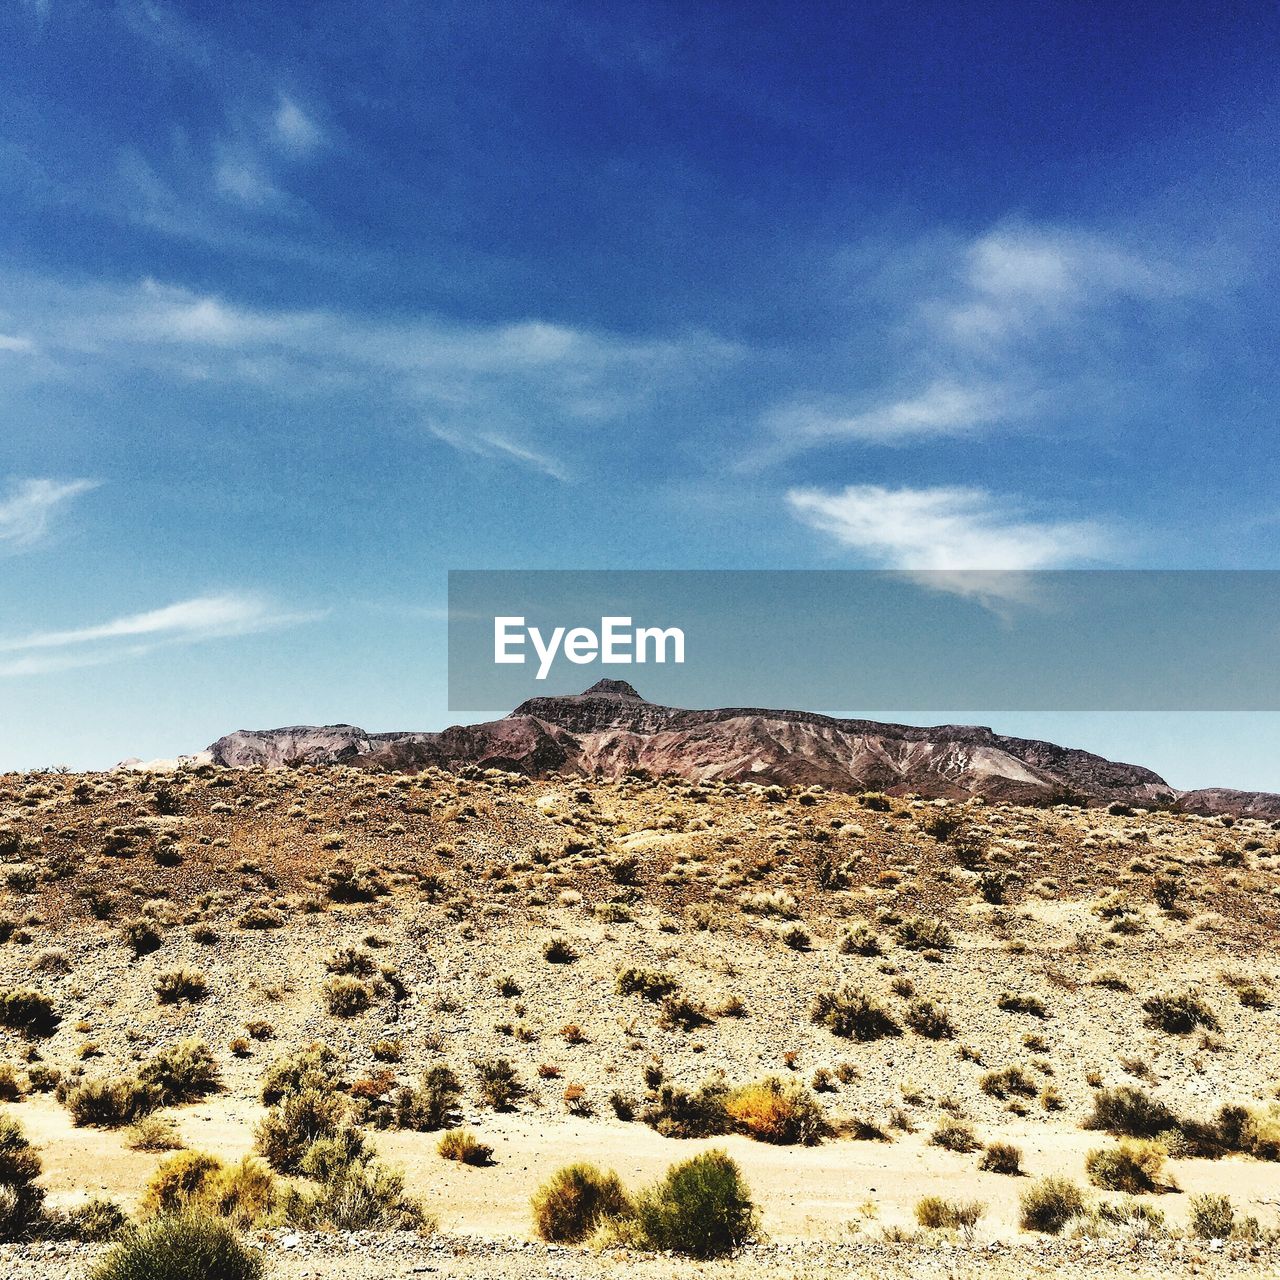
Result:
[[[228,1167],[256,1151],[280,1185],[237,1212],[271,1274],[347,1274],[357,1244],[369,1275],[521,1274],[559,1166],[635,1189],[722,1149],[762,1272],[794,1247],[806,1274],[916,1274],[947,1239],[1010,1275],[1272,1257],[1261,819],[206,764],[5,776],[0,859],[0,1085],[51,1213],[146,1216],[157,1140]],[[297,1092],[264,1101],[264,1079],[289,1070],[403,1174],[416,1207],[384,1226],[412,1231],[332,1234],[351,1222],[315,1207],[324,1178],[262,1138]],[[490,1158],[442,1158],[448,1133]],[[1065,1202],[1028,1217],[1047,1178],[1078,1203],[1053,1184]],[[595,1274],[625,1244],[557,1257]],[[102,1247],[5,1248],[37,1276]]]

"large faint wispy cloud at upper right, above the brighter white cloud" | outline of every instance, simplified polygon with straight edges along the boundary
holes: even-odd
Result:
[[[911,259],[902,246],[892,252]],[[1000,227],[916,253],[905,288],[893,274],[887,305],[897,317],[870,339],[899,371],[892,384],[774,406],[742,466],[840,442],[906,445],[1034,424],[1079,404],[1100,378],[1128,376],[1112,317],[1149,316],[1215,287],[1152,253],[1055,227]]]

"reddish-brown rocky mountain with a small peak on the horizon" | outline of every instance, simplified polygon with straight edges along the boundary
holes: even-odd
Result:
[[[812,712],[684,710],[602,680],[582,694],[532,698],[509,716],[438,733],[366,733],[352,724],[241,730],[209,748],[225,765],[431,765],[617,777],[644,769],[691,780],[819,785],[840,791],[980,795],[1043,804],[1083,799],[1280,819],[1280,796],[1221,788],[1180,794],[1151,769],[973,724],[883,724]]]

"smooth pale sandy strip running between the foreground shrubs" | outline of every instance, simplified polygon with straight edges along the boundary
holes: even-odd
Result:
[[[128,1151],[119,1133],[77,1129],[50,1098],[12,1106],[41,1151],[52,1203],[87,1194],[136,1204],[141,1188],[163,1158]],[[261,1111],[218,1102],[174,1112],[188,1146],[227,1160],[247,1155]],[[628,1185],[658,1178],[676,1160],[709,1147],[727,1149],[741,1166],[771,1239],[847,1240],[851,1231],[878,1234],[879,1226],[914,1226],[922,1196],[987,1203],[982,1239],[1018,1236],[1018,1196],[1029,1178],[1064,1169],[1084,1181],[1084,1155],[1110,1139],[1041,1124],[1011,1123],[1001,1138],[1021,1147],[1027,1178],[980,1172],[977,1156],[931,1146],[923,1133],[892,1143],[826,1142],[818,1147],[772,1147],[741,1137],[708,1140],[663,1138],[637,1124],[485,1115],[476,1132],[494,1147],[494,1162],[472,1169],[442,1160],[438,1134],[380,1133],[380,1153],[404,1170],[410,1192],[436,1216],[442,1230],[492,1240],[530,1236],[529,1202],[547,1176],[577,1160],[616,1169]],[[1170,1171],[1176,1193],[1148,1197],[1170,1225],[1185,1221],[1187,1204],[1202,1192],[1225,1193],[1239,1211],[1265,1226],[1280,1225],[1280,1165],[1245,1158],[1179,1160]]]

